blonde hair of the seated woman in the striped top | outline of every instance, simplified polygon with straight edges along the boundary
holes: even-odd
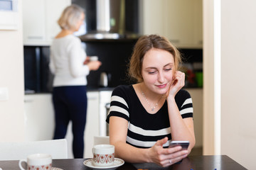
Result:
[[[174,56],[174,69],[178,70],[181,64],[181,54],[178,52],[177,48],[169,42],[167,38],[161,37],[159,35],[143,35],[136,42],[134,50],[132,52],[132,57],[129,61],[129,77],[131,79],[137,80],[137,82],[142,82],[142,62],[144,55],[151,48],[166,50]]]

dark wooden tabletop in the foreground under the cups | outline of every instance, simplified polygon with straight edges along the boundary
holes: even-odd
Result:
[[[53,167],[58,167],[63,170],[89,170],[87,166],[83,164],[86,159],[53,159]],[[3,170],[18,170],[18,161],[0,161],[0,167]],[[137,169],[149,169],[149,170],[240,170],[245,167],[235,162],[233,159],[226,155],[209,155],[209,156],[189,156],[183,159],[181,164],[174,164],[166,168],[157,166],[156,164],[129,164],[119,166],[117,170],[137,170]]]

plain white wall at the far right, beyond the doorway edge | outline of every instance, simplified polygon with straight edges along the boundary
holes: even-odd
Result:
[[[256,1],[221,5],[221,152],[256,169]]]

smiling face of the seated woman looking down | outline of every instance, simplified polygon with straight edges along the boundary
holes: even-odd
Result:
[[[147,89],[166,94],[174,77],[174,57],[166,50],[152,48],[144,55],[142,77]]]

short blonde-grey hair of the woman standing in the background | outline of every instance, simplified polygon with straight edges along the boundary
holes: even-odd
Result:
[[[82,13],[85,13],[85,11],[78,5],[67,6],[58,19],[58,25],[65,30],[75,29]]]

